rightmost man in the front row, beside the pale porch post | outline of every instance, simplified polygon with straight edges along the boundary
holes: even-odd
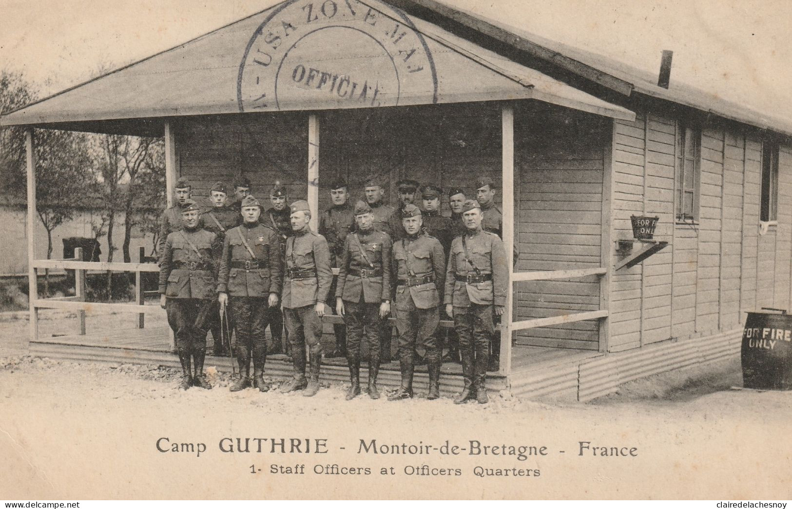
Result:
[[[495,332],[493,315],[503,315],[508,288],[508,269],[503,241],[482,229],[482,209],[466,200],[463,219],[466,234],[451,243],[446,270],[446,314],[454,319],[465,387],[455,403],[476,398],[486,403],[486,371],[489,341]]]

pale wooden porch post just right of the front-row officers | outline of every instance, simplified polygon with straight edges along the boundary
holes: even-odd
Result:
[[[503,131],[503,243],[507,261],[512,260],[514,245],[514,108],[501,109],[501,128]],[[514,293],[514,266],[508,264],[508,288],[506,306],[501,316],[501,366],[500,374],[512,371],[512,296]]]

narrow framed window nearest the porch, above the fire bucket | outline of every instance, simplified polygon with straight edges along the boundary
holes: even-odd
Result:
[[[676,221],[699,221],[701,194],[701,130],[680,125],[680,147],[676,168]]]

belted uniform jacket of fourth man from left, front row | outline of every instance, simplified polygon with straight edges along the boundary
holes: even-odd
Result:
[[[367,304],[390,300],[390,250],[390,236],[377,229],[347,236],[339,267],[336,296],[349,302]],[[363,259],[363,252],[368,262]],[[361,270],[367,272],[366,277],[361,275]]]

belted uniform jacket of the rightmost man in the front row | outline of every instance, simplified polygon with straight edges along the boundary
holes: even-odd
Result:
[[[474,304],[506,305],[508,288],[508,262],[503,241],[494,233],[479,230],[464,236],[470,260],[465,255],[463,236],[451,243],[451,254],[445,281],[445,304],[455,307],[469,307]],[[478,271],[476,270],[478,269]],[[492,274],[492,279],[480,283],[456,281],[456,275]]]

